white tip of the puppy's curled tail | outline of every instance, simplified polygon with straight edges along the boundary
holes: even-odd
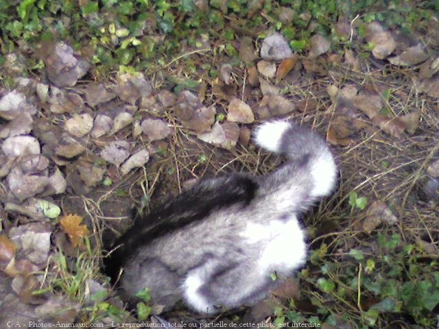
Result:
[[[287,121],[272,121],[259,125],[255,131],[254,141],[268,151],[276,152],[281,146],[283,133],[291,127]]]

